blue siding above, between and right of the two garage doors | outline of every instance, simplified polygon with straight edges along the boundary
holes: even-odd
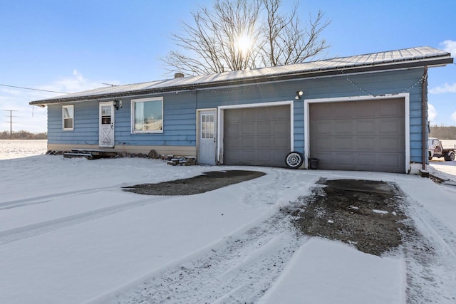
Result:
[[[382,73],[333,76],[197,93],[198,108],[294,100],[294,150],[304,152],[304,99],[410,93],[410,161],[421,162],[421,83],[423,68]]]

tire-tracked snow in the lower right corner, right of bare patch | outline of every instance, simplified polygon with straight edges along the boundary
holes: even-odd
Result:
[[[456,236],[412,201],[405,213],[414,231],[405,238],[408,303],[456,303]]]

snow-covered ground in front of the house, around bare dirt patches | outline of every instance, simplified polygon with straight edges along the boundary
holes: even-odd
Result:
[[[431,169],[456,180],[454,163]],[[192,196],[120,189],[223,169],[266,175]],[[58,155],[0,172],[0,303],[456,302],[456,187],[430,179]],[[423,239],[378,257],[297,237],[279,209],[321,177],[395,182]]]

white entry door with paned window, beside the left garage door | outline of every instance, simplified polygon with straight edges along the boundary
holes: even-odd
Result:
[[[215,164],[217,149],[217,128],[215,110],[199,111],[199,164]]]

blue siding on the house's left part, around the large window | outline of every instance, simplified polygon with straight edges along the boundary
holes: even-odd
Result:
[[[163,133],[131,133],[131,100],[122,98],[123,108],[115,110],[115,145],[196,145],[196,108],[194,93],[169,93],[163,96]],[[157,96],[157,95],[155,95]],[[140,98],[147,98],[142,96]],[[62,105],[49,105],[49,143],[98,145],[98,105],[110,100],[68,103],[75,106],[74,130],[62,130]]]

